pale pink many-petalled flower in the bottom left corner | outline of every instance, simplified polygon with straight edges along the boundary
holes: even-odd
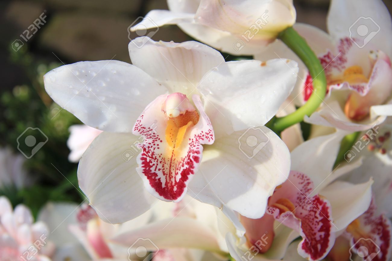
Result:
[[[34,223],[27,207],[13,210],[9,200],[0,197],[0,260],[51,261],[54,245],[49,233],[45,223]]]

